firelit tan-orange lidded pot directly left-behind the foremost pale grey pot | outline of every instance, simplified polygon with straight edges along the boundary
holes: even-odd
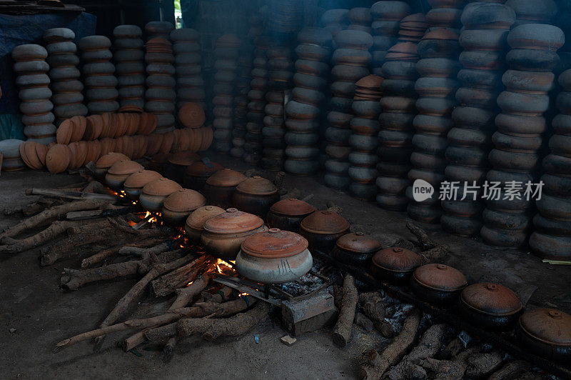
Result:
[[[226,261],[236,260],[248,236],[268,231],[261,218],[237,209],[227,209],[208,219],[203,228],[201,242],[206,251]]]

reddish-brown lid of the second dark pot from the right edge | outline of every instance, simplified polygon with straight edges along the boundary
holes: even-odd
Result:
[[[460,294],[462,303],[481,314],[506,316],[522,309],[522,302],[512,289],[491,282],[467,286]]]

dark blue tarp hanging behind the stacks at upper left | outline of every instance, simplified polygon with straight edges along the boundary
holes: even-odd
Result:
[[[41,36],[46,29],[69,28],[76,34],[76,42],[84,36],[95,34],[96,16],[88,13],[76,14],[59,12],[57,14],[32,14],[11,16],[0,14],[0,114],[19,114],[18,89],[14,83],[12,71],[14,61],[11,58],[12,49],[23,44],[45,45]],[[4,119],[6,121],[6,119]],[[18,134],[14,131],[16,124],[7,125],[0,119],[0,136]],[[21,126],[17,126],[21,128]],[[21,131],[20,131],[21,134]]]

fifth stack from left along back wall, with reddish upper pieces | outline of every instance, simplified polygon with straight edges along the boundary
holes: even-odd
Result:
[[[174,55],[171,41],[154,37],[147,41],[145,63],[147,71],[145,111],[156,115],[156,133],[164,134],[174,129],[176,101]]]

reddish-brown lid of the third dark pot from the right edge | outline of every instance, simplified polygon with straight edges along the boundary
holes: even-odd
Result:
[[[458,269],[445,264],[419,266],[413,278],[425,288],[437,291],[458,291],[468,285],[466,277]]]

